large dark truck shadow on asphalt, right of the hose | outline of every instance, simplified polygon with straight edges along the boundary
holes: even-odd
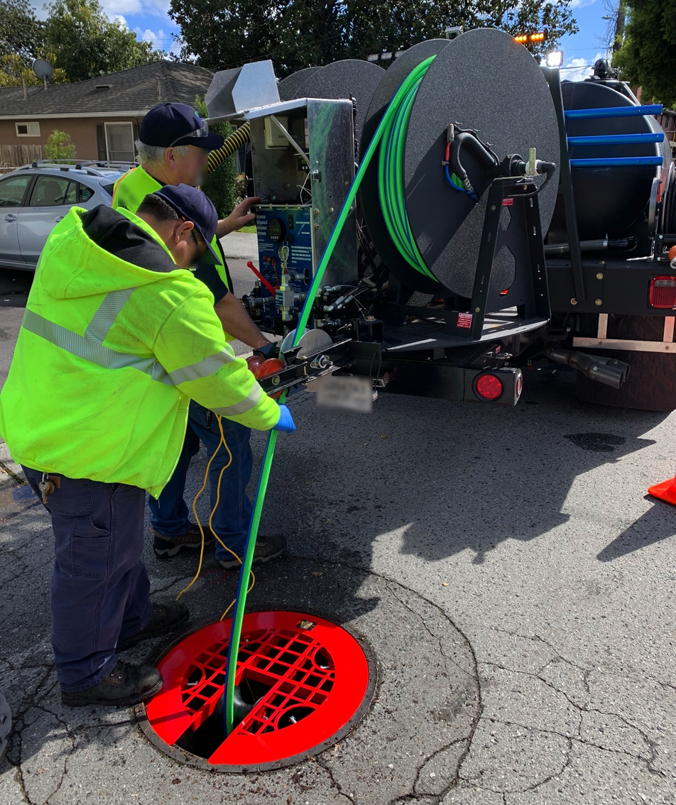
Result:
[[[372,417],[319,415],[305,395],[299,430],[280,440],[264,526],[293,551],[366,567],[371,551],[393,562],[471,551],[480,564],[505,539],[567,522],[571,487],[655,444],[644,434],[667,416],[579,403],[566,370],[533,369],[525,386],[515,408],[382,394]],[[644,519],[641,534],[670,530],[668,514]]]

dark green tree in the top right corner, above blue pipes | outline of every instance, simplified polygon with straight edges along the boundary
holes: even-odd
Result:
[[[641,87],[645,101],[676,107],[676,3],[629,0],[624,44],[613,56],[623,81]]]

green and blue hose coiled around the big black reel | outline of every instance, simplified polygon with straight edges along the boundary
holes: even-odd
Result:
[[[385,219],[385,226],[399,254],[420,274],[436,280],[435,275],[427,268],[425,261],[422,259],[418,244],[415,242],[411,232],[408,213],[406,213],[406,192],[404,189],[404,146],[410,113],[411,109],[413,109],[416,93],[418,93],[418,87],[434,58],[434,56],[431,56],[430,59],[422,62],[418,68],[410,73],[409,79],[414,75],[416,77],[414,81],[410,82],[406,94],[385,128],[378,159],[378,196],[382,216]],[[421,69],[424,64],[427,64],[427,67]],[[406,85],[406,81],[404,85]],[[390,104],[391,106],[392,104]]]

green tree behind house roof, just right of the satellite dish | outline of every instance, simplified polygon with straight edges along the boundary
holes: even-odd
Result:
[[[85,81],[109,72],[138,67],[163,58],[148,42],[139,42],[122,23],[109,22],[98,0],[55,0],[49,8],[47,50],[54,67],[70,81]]]

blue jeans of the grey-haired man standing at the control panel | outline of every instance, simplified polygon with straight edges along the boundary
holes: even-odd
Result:
[[[246,487],[251,478],[253,456],[249,438],[251,430],[232,419],[221,419],[225,443],[233,455],[233,460],[221,478],[221,495],[216,512],[213,515],[213,530],[231,551],[241,556],[244,550],[246,535],[249,532],[251,519],[251,502],[246,494]],[[148,497],[150,507],[150,525],[160,536],[176,537],[190,528],[188,506],[183,500],[185,478],[192,456],[200,449],[200,440],[207,448],[207,456],[211,457],[221,441],[216,414],[191,400],[188,411],[188,428],[183,441],[183,450],[176,465],[174,474],[162,490],[158,500]],[[216,504],[218,477],[221,469],[228,464],[228,451],[221,445],[209,468],[209,500],[210,510]],[[201,485],[201,484],[200,484]],[[207,522],[202,523],[204,533],[208,534]],[[216,540],[216,558],[232,559],[225,548]]]

